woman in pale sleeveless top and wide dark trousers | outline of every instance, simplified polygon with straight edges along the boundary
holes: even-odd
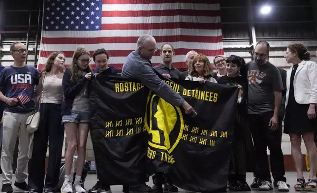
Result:
[[[64,128],[62,122],[62,79],[65,65],[63,52],[52,53],[41,72],[35,100],[39,103],[40,123],[34,132],[32,161],[29,173],[29,190],[36,193],[53,193],[59,183]],[[45,158],[49,145],[48,167],[45,177]],[[44,190],[43,190],[44,189]]]

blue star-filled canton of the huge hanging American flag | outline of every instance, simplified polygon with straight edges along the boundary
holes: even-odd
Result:
[[[45,31],[101,30],[100,0],[46,0]]]

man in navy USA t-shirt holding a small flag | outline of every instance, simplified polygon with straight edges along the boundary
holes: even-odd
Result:
[[[2,189],[1,192],[12,193],[12,156],[19,135],[19,154],[15,171],[15,190],[28,192],[25,182],[28,177],[29,147],[32,133],[27,132],[26,120],[32,115],[35,107],[34,87],[38,84],[39,71],[25,64],[28,50],[20,42],[10,46],[14,63],[0,72],[0,100],[3,101],[3,141],[1,151]],[[26,97],[18,99],[25,90]],[[28,99],[28,98],[30,99]],[[28,101],[29,100],[29,101]]]

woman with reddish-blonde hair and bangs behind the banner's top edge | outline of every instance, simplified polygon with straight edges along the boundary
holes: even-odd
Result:
[[[213,82],[217,83],[216,79],[212,77],[213,69],[207,56],[198,54],[192,61],[189,75],[185,80],[198,81],[199,83]]]

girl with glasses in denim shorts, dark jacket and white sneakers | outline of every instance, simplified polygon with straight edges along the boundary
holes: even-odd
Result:
[[[90,126],[90,108],[88,80],[92,70],[89,67],[90,53],[83,47],[75,50],[71,66],[63,76],[64,100],[62,103],[62,124],[67,136],[67,151],[65,154],[65,180],[62,193],[86,193],[80,185],[81,174],[86,157],[86,143]],[[73,156],[77,149],[76,176],[74,185],[70,182],[70,172]]]

